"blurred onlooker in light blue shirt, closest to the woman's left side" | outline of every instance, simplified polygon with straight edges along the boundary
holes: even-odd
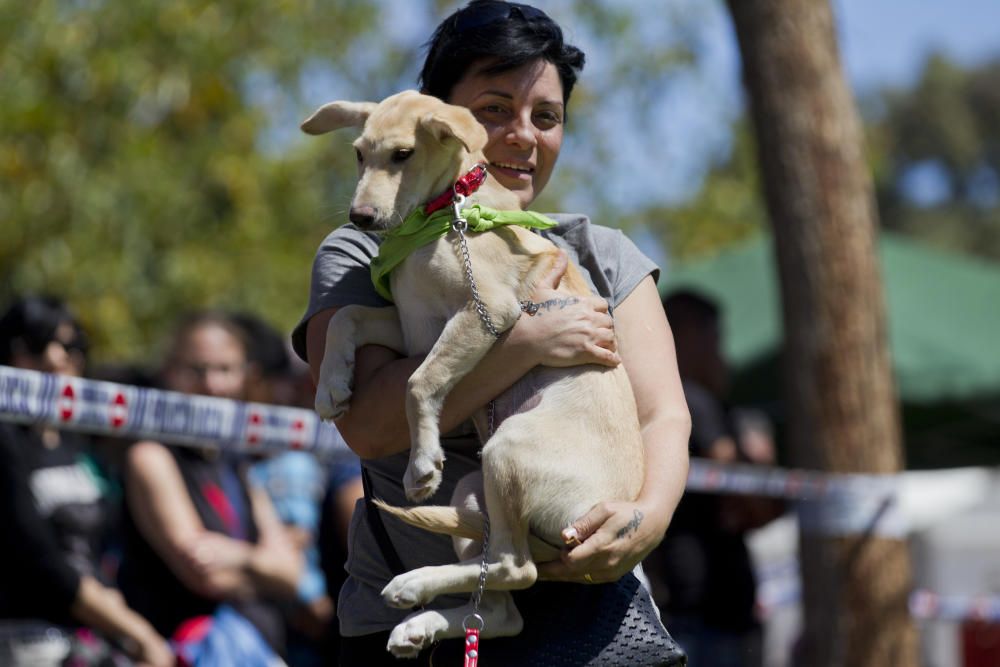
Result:
[[[309,367],[290,353],[287,337],[256,315],[239,313],[234,319],[250,341],[248,399],[312,409]],[[347,525],[363,496],[360,462],[346,445],[342,454],[322,462],[311,452],[288,450],[256,463],[250,477],[267,491],[305,557],[298,600],[288,616],[288,661],[295,667],[335,662],[340,632],[334,600],[345,578]],[[332,526],[322,538],[321,522]]]

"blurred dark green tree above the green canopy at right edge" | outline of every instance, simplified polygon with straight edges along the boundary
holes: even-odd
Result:
[[[932,55],[916,85],[872,106],[883,224],[1000,258],[1000,60],[963,69]]]

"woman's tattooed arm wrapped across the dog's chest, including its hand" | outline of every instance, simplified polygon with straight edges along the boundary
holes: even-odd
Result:
[[[565,255],[541,281],[534,300],[559,295],[553,288],[566,270]],[[445,433],[514,384],[539,364],[573,366],[584,363],[617,365],[611,317],[600,297],[564,303],[551,317],[522,317],[505,332],[475,369],[448,395],[441,413]],[[306,347],[313,379],[326,348],[326,329],[335,308],[314,315],[306,329]],[[423,357],[400,357],[378,346],[358,349],[350,409],[337,420],[344,440],[361,458],[378,458],[410,447],[406,421],[406,383]]]

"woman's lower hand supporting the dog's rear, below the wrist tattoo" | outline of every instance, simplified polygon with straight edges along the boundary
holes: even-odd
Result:
[[[538,566],[540,579],[604,583],[628,574],[663,538],[656,512],[640,503],[602,502],[563,531],[568,544],[557,561]]]

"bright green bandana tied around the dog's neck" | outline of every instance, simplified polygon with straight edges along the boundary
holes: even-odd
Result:
[[[371,263],[372,282],[380,296],[392,301],[392,290],[389,287],[392,270],[417,248],[447,235],[451,231],[453,214],[451,206],[439,209],[429,216],[421,207],[408,215],[402,225],[385,235],[378,249],[378,257]],[[462,209],[462,217],[469,222],[470,232],[488,232],[503,225],[548,229],[557,224],[534,211],[498,211],[480,204]]]

